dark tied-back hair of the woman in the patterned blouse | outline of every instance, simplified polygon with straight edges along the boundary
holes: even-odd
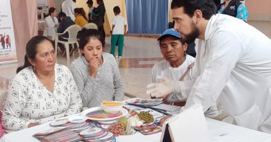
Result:
[[[26,44],[26,55],[24,55],[24,66],[18,67],[16,73],[19,73],[22,69],[32,66],[32,64],[28,61],[28,57],[32,60],[35,60],[35,55],[37,54],[37,48],[40,43],[42,43],[44,40],[47,40],[51,42],[50,39],[47,37],[44,37],[42,35],[36,35],[35,37],[32,37]]]

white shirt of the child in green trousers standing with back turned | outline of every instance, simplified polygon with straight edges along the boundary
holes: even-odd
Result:
[[[113,25],[115,26],[112,35],[124,35],[124,25],[126,20],[121,15],[117,15],[113,18]]]

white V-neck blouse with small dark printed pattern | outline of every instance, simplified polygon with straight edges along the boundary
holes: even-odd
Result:
[[[19,71],[8,87],[2,123],[7,130],[22,130],[29,123],[47,123],[78,114],[82,100],[67,66],[55,66],[54,93],[38,80],[31,66]]]

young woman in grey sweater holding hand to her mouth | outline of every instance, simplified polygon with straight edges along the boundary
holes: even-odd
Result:
[[[104,42],[96,29],[83,28],[79,48],[82,56],[71,64],[84,107],[99,107],[102,100],[124,97],[124,85],[113,55],[103,53]]]

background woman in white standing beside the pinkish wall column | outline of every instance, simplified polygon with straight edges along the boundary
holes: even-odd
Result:
[[[49,16],[44,19],[44,32],[43,36],[51,40],[56,39],[56,28],[58,28],[58,19],[56,18],[56,8],[49,8]]]

